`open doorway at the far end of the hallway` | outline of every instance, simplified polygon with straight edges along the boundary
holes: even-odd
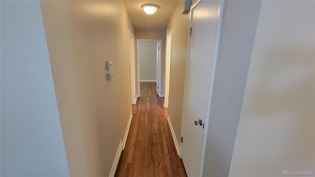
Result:
[[[161,42],[161,39],[137,39],[138,88],[140,82],[156,82],[158,96],[161,90]]]

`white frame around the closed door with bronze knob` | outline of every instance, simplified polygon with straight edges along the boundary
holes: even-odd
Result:
[[[192,17],[193,17],[193,10],[204,0],[198,0],[196,3],[194,3],[191,6],[190,10],[190,25],[189,27],[192,28]],[[215,39],[215,54],[214,54],[214,63],[213,63],[213,70],[212,70],[212,78],[211,78],[211,87],[209,88],[208,92],[208,110],[207,110],[207,116],[205,119],[205,132],[203,136],[203,148],[202,148],[202,155],[201,155],[201,167],[200,167],[200,176],[202,176],[202,171],[203,171],[203,163],[204,163],[204,155],[205,155],[205,149],[206,149],[206,141],[207,141],[207,133],[208,133],[208,122],[210,118],[210,108],[211,108],[211,100],[212,100],[212,93],[213,93],[213,84],[214,84],[214,79],[215,79],[215,73],[216,73],[216,65],[217,65],[217,59],[218,59],[218,48],[219,48],[219,43],[220,43],[220,32],[221,32],[221,24],[222,24],[222,16],[224,12],[224,3],[225,0],[221,0],[219,2],[219,9],[218,9],[218,27],[216,31],[216,39]],[[189,45],[188,45],[188,52],[187,52],[187,63],[186,63],[186,76],[185,76],[185,83],[187,83],[188,80],[188,69],[189,69],[189,60],[190,60],[190,44],[191,44],[191,36],[189,35]],[[187,85],[185,84],[185,89],[184,89],[184,103],[183,106],[185,105],[185,100],[186,100],[186,92],[187,92]],[[181,129],[181,137],[183,137],[184,134],[184,114],[185,110],[183,110],[183,116],[182,116],[182,129]],[[182,158],[182,148],[183,143],[180,144],[180,157]]]

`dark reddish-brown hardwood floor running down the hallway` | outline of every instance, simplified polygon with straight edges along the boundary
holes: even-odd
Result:
[[[140,94],[115,177],[187,177],[156,83],[140,83]]]

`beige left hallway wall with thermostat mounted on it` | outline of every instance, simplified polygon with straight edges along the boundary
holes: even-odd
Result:
[[[131,113],[133,27],[125,6],[41,1],[41,8],[70,175],[107,177]],[[113,81],[106,80],[107,60]]]

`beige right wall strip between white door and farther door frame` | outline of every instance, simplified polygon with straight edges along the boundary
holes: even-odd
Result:
[[[176,6],[168,24],[167,32],[172,30],[172,51],[169,81],[168,116],[172,122],[177,142],[181,142],[182,113],[186,76],[187,50],[190,14],[183,15],[184,1]]]

